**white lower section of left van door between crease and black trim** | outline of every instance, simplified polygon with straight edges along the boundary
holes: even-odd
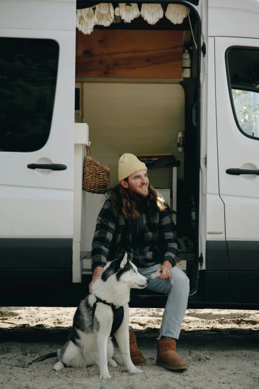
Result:
[[[65,189],[0,185],[0,214],[1,238],[70,238],[73,193]]]

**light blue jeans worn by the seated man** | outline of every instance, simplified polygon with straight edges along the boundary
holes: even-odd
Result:
[[[158,278],[151,280],[150,275],[159,266],[161,264],[152,267],[138,267],[137,270],[150,280],[146,289],[168,294],[160,328],[160,337],[170,336],[178,339],[190,292],[189,278],[181,269],[174,266],[171,270],[171,277],[167,280],[159,280]]]

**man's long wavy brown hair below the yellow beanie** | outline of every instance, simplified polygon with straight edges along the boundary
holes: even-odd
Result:
[[[137,211],[137,204],[139,203],[140,198],[132,196],[129,189],[122,186],[122,184],[117,184],[114,188],[111,188],[106,194],[106,197],[111,199],[115,215],[122,213],[126,219],[128,217],[137,219],[140,216]],[[166,203],[163,197],[157,193],[151,184],[148,185],[147,199],[149,203],[149,212],[161,212],[166,209]]]

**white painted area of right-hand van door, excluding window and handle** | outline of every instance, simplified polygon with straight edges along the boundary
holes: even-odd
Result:
[[[225,204],[226,239],[258,240],[259,177],[226,173],[226,169],[247,163],[259,169],[259,141],[241,133],[231,106],[225,63],[225,52],[231,46],[258,48],[259,40],[215,38],[219,189]]]

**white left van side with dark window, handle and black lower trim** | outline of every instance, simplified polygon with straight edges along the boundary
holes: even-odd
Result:
[[[0,269],[71,273],[75,4],[1,2]]]

